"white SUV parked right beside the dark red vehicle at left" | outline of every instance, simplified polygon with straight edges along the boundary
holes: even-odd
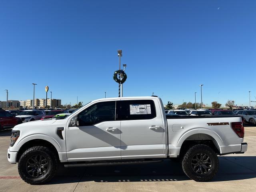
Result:
[[[42,110],[24,110],[19,113],[16,117],[22,119],[22,122],[36,121],[40,120],[42,116],[45,116],[45,112]]]

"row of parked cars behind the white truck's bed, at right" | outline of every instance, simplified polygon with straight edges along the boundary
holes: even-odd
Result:
[[[185,110],[166,110],[166,116],[208,116],[208,115],[238,115],[242,117],[244,124],[252,124],[256,126],[256,110],[247,109],[247,110],[223,110],[223,109],[185,109]]]

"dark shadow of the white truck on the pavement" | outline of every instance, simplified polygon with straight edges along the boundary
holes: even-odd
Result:
[[[211,182],[256,178],[256,156],[221,156],[218,174]],[[74,182],[174,182],[190,180],[177,161],[160,163],[64,168],[48,184]]]

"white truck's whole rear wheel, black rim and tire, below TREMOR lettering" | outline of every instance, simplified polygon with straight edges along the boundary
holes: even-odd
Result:
[[[219,168],[216,152],[207,145],[194,145],[182,160],[184,173],[197,182],[212,180]]]

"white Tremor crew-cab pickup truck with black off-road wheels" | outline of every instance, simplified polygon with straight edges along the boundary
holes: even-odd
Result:
[[[244,153],[238,116],[166,116],[155,96],[94,100],[65,119],[27,122],[12,130],[8,161],[29,184],[66,168],[158,162],[180,158],[195,181],[211,180],[217,155]]]

